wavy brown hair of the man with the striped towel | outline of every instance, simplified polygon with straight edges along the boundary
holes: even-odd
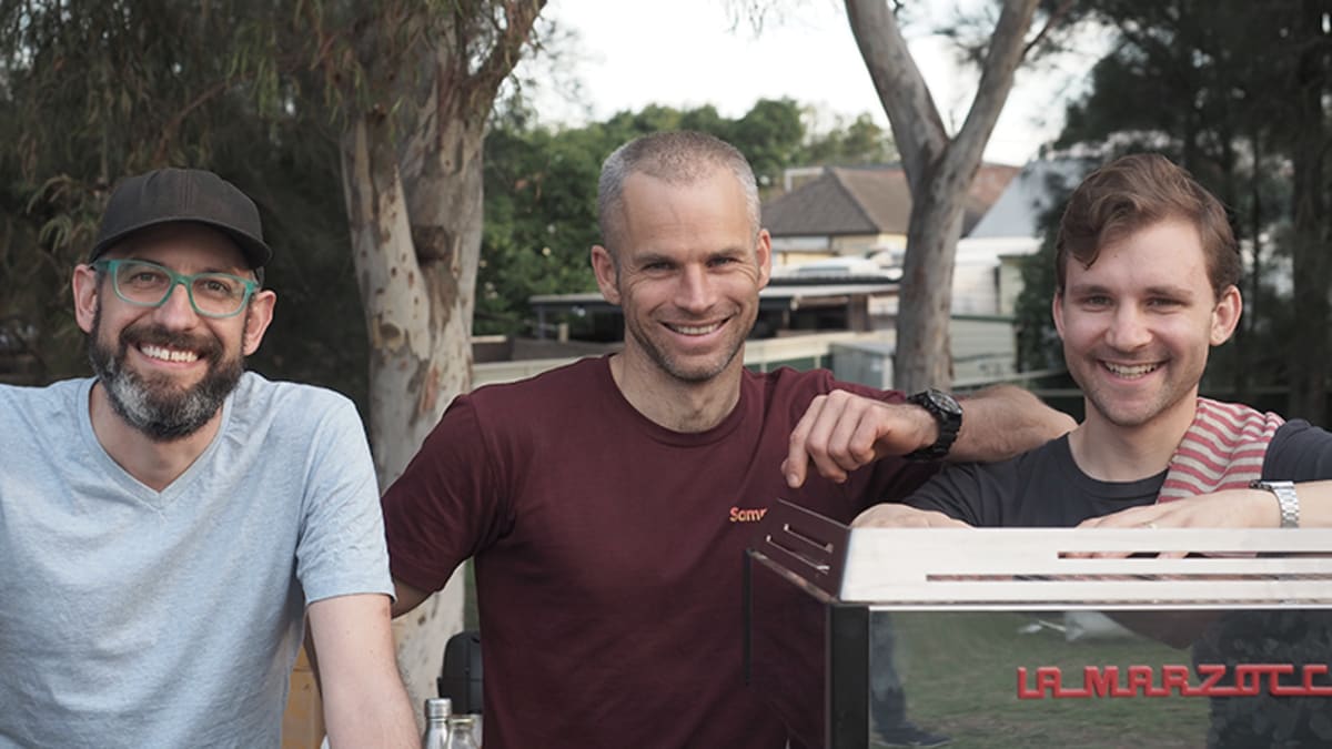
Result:
[[[1070,196],[1055,239],[1056,291],[1064,291],[1070,260],[1091,268],[1106,245],[1167,219],[1197,229],[1217,299],[1239,284],[1239,245],[1221,201],[1169,159],[1135,153],[1092,172]]]

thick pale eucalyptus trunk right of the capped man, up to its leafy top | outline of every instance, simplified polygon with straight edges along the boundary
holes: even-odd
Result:
[[[545,0],[308,3],[297,32],[324,73],[370,352],[381,486],[470,389],[486,123]],[[304,23],[302,23],[304,21]],[[396,624],[413,697],[461,625],[461,581]]]

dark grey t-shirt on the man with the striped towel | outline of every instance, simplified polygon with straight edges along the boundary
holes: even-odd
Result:
[[[1308,421],[1283,424],[1263,458],[1268,480],[1332,478],[1332,433]],[[1068,436],[1000,462],[955,464],[906,504],[976,526],[1068,528],[1156,501],[1166,472],[1138,481],[1098,481],[1078,468]]]

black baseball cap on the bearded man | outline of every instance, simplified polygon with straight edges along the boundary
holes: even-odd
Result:
[[[88,263],[135,232],[174,221],[192,221],[224,232],[253,269],[273,259],[272,248],[264,244],[258,208],[236,185],[204,169],[157,169],[116,185]]]

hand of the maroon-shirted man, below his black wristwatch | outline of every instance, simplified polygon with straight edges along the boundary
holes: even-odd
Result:
[[[939,426],[923,408],[888,404],[846,390],[818,396],[791,432],[782,473],[793,489],[809,465],[838,484],[856,468],[890,454],[906,454],[938,438]]]

